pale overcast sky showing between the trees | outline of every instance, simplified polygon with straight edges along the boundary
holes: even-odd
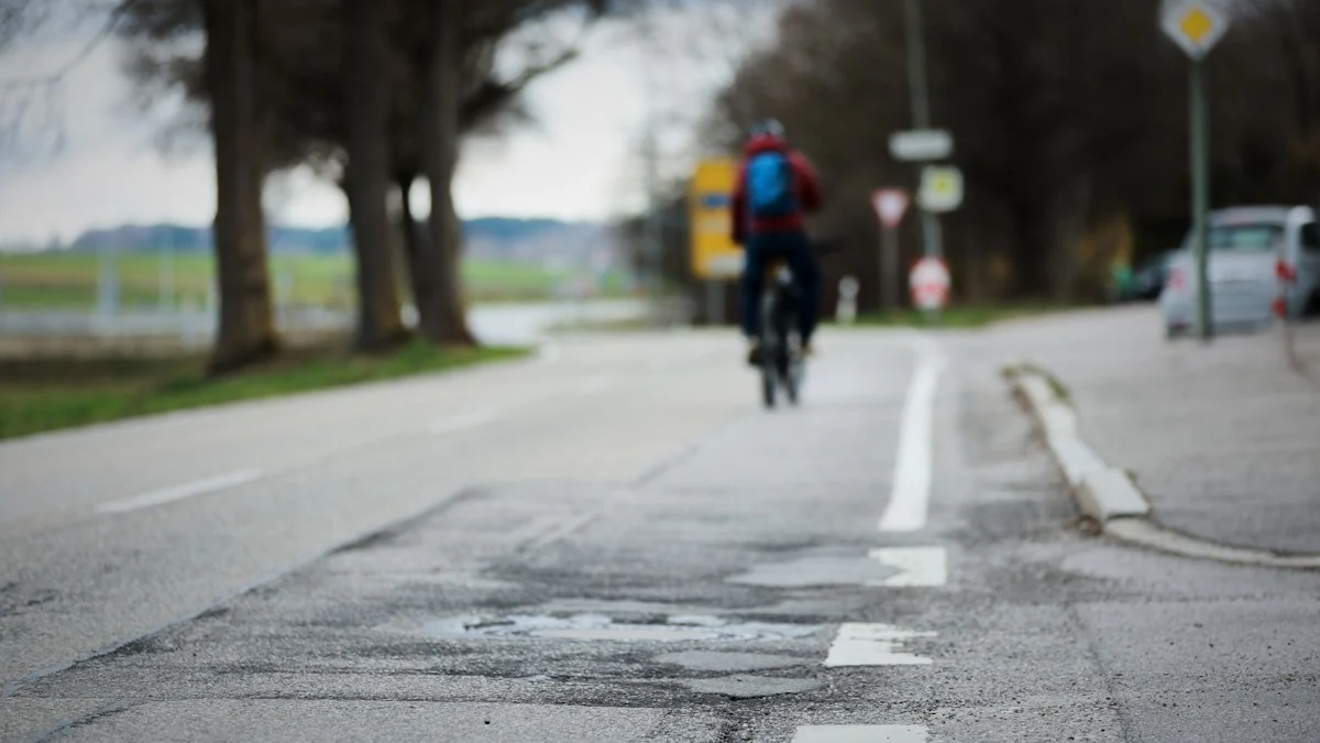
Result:
[[[665,57],[655,97],[672,122],[664,139],[671,169],[688,167],[688,124],[725,78],[729,58],[741,53],[734,45],[764,38],[771,28],[772,4],[760,5],[764,17],[755,33],[711,37],[710,19],[669,19],[661,32],[665,44],[681,48]],[[697,29],[706,29],[710,38],[693,54],[689,42],[701,33]],[[70,40],[9,52],[0,56],[0,79],[49,73],[77,57],[84,44]],[[22,163],[0,159],[0,241],[70,239],[88,227],[121,223],[201,225],[214,215],[209,143],[183,155],[162,155],[154,141],[158,122],[129,106],[131,87],[119,58],[117,45],[106,42],[69,74],[62,127],[41,127],[45,100],[29,100],[34,104],[20,141],[29,156]],[[579,61],[529,93],[535,126],[498,141],[469,144],[455,184],[461,213],[607,219],[635,209],[642,204],[636,143],[648,110],[642,69],[631,28],[606,25],[593,32]],[[0,120],[15,99],[0,93]],[[42,137],[55,130],[65,135],[63,149],[34,156]],[[306,173],[276,178],[268,192],[280,222],[321,226],[346,217],[339,192]]]

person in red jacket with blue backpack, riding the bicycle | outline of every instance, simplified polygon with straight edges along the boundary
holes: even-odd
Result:
[[[733,239],[743,246],[742,331],[751,345],[747,362],[760,364],[760,296],[766,266],[781,258],[801,293],[799,332],[803,354],[810,354],[820,296],[820,272],[807,238],[805,214],[821,208],[820,182],[812,164],[788,147],[775,119],[751,128],[733,197]]]

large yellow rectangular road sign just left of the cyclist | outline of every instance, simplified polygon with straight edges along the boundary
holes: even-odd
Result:
[[[733,193],[738,163],[705,160],[697,165],[689,192],[692,275],[698,279],[734,279],[742,272],[742,247],[733,241]]]

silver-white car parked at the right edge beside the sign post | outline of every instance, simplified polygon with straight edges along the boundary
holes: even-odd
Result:
[[[1320,312],[1320,227],[1309,206],[1238,206],[1213,212],[1208,274],[1216,331],[1253,329],[1274,321],[1280,292],[1290,317]],[[1196,327],[1195,235],[1170,263],[1160,305],[1170,337]],[[1279,266],[1295,280],[1282,283]]]

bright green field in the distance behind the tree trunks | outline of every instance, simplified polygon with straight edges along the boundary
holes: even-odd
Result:
[[[214,259],[206,254],[162,262],[154,253],[129,253],[120,255],[116,266],[120,304],[125,308],[161,304],[165,266],[174,304],[201,307],[215,272]],[[100,258],[95,254],[0,254],[0,307],[90,308],[96,303],[99,271]],[[276,255],[271,258],[271,280],[277,296],[292,304],[348,307],[354,301],[348,255]],[[463,263],[463,282],[470,301],[510,301],[545,299],[557,278],[535,264],[470,259]],[[609,282],[606,290],[618,292],[619,282]]]

